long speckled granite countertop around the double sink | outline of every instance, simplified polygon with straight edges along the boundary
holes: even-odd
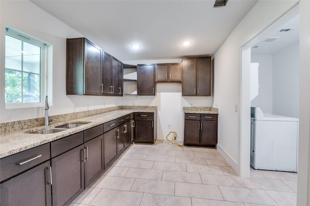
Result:
[[[110,120],[123,117],[125,115],[131,114],[133,112],[155,112],[157,107],[135,107],[135,109],[130,109],[130,107],[124,107],[119,110],[114,110],[102,114],[96,114],[88,117],[75,118],[71,120],[66,120],[63,122],[57,122],[50,126],[37,126],[28,129],[22,129],[15,132],[1,133],[0,135],[0,159],[7,157],[9,155],[30,149],[32,147],[37,147],[45,143],[60,139],[62,137],[81,132],[92,128],[94,126],[103,124]],[[34,132],[42,129],[52,128],[55,126],[63,125],[65,123],[81,122],[88,123],[79,127],[72,129],[67,129],[62,132],[51,133],[51,134],[33,134],[28,132]]]

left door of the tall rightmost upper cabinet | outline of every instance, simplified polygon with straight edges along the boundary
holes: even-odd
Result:
[[[196,96],[196,58],[183,59],[182,96]]]

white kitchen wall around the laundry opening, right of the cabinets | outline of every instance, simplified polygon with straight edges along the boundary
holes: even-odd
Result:
[[[241,119],[239,110],[235,112],[235,105],[239,108],[241,102],[240,48],[285,14],[296,2],[297,0],[258,1],[214,55],[214,105],[217,105],[219,109],[217,146],[239,174],[242,171],[240,164],[242,158],[241,121],[250,121],[249,117]],[[242,106],[242,111],[249,110],[250,103]],[[250,138],[249,131],[248,138]]]

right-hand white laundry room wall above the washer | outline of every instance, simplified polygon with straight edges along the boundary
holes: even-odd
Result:
[[[299,42],[272,55],[273,114],[299,117]]]

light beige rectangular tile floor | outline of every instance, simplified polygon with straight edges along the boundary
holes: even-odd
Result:
[[[70,206],[296,206],[296,173],[250,172],[214,148],[135,144]]]

